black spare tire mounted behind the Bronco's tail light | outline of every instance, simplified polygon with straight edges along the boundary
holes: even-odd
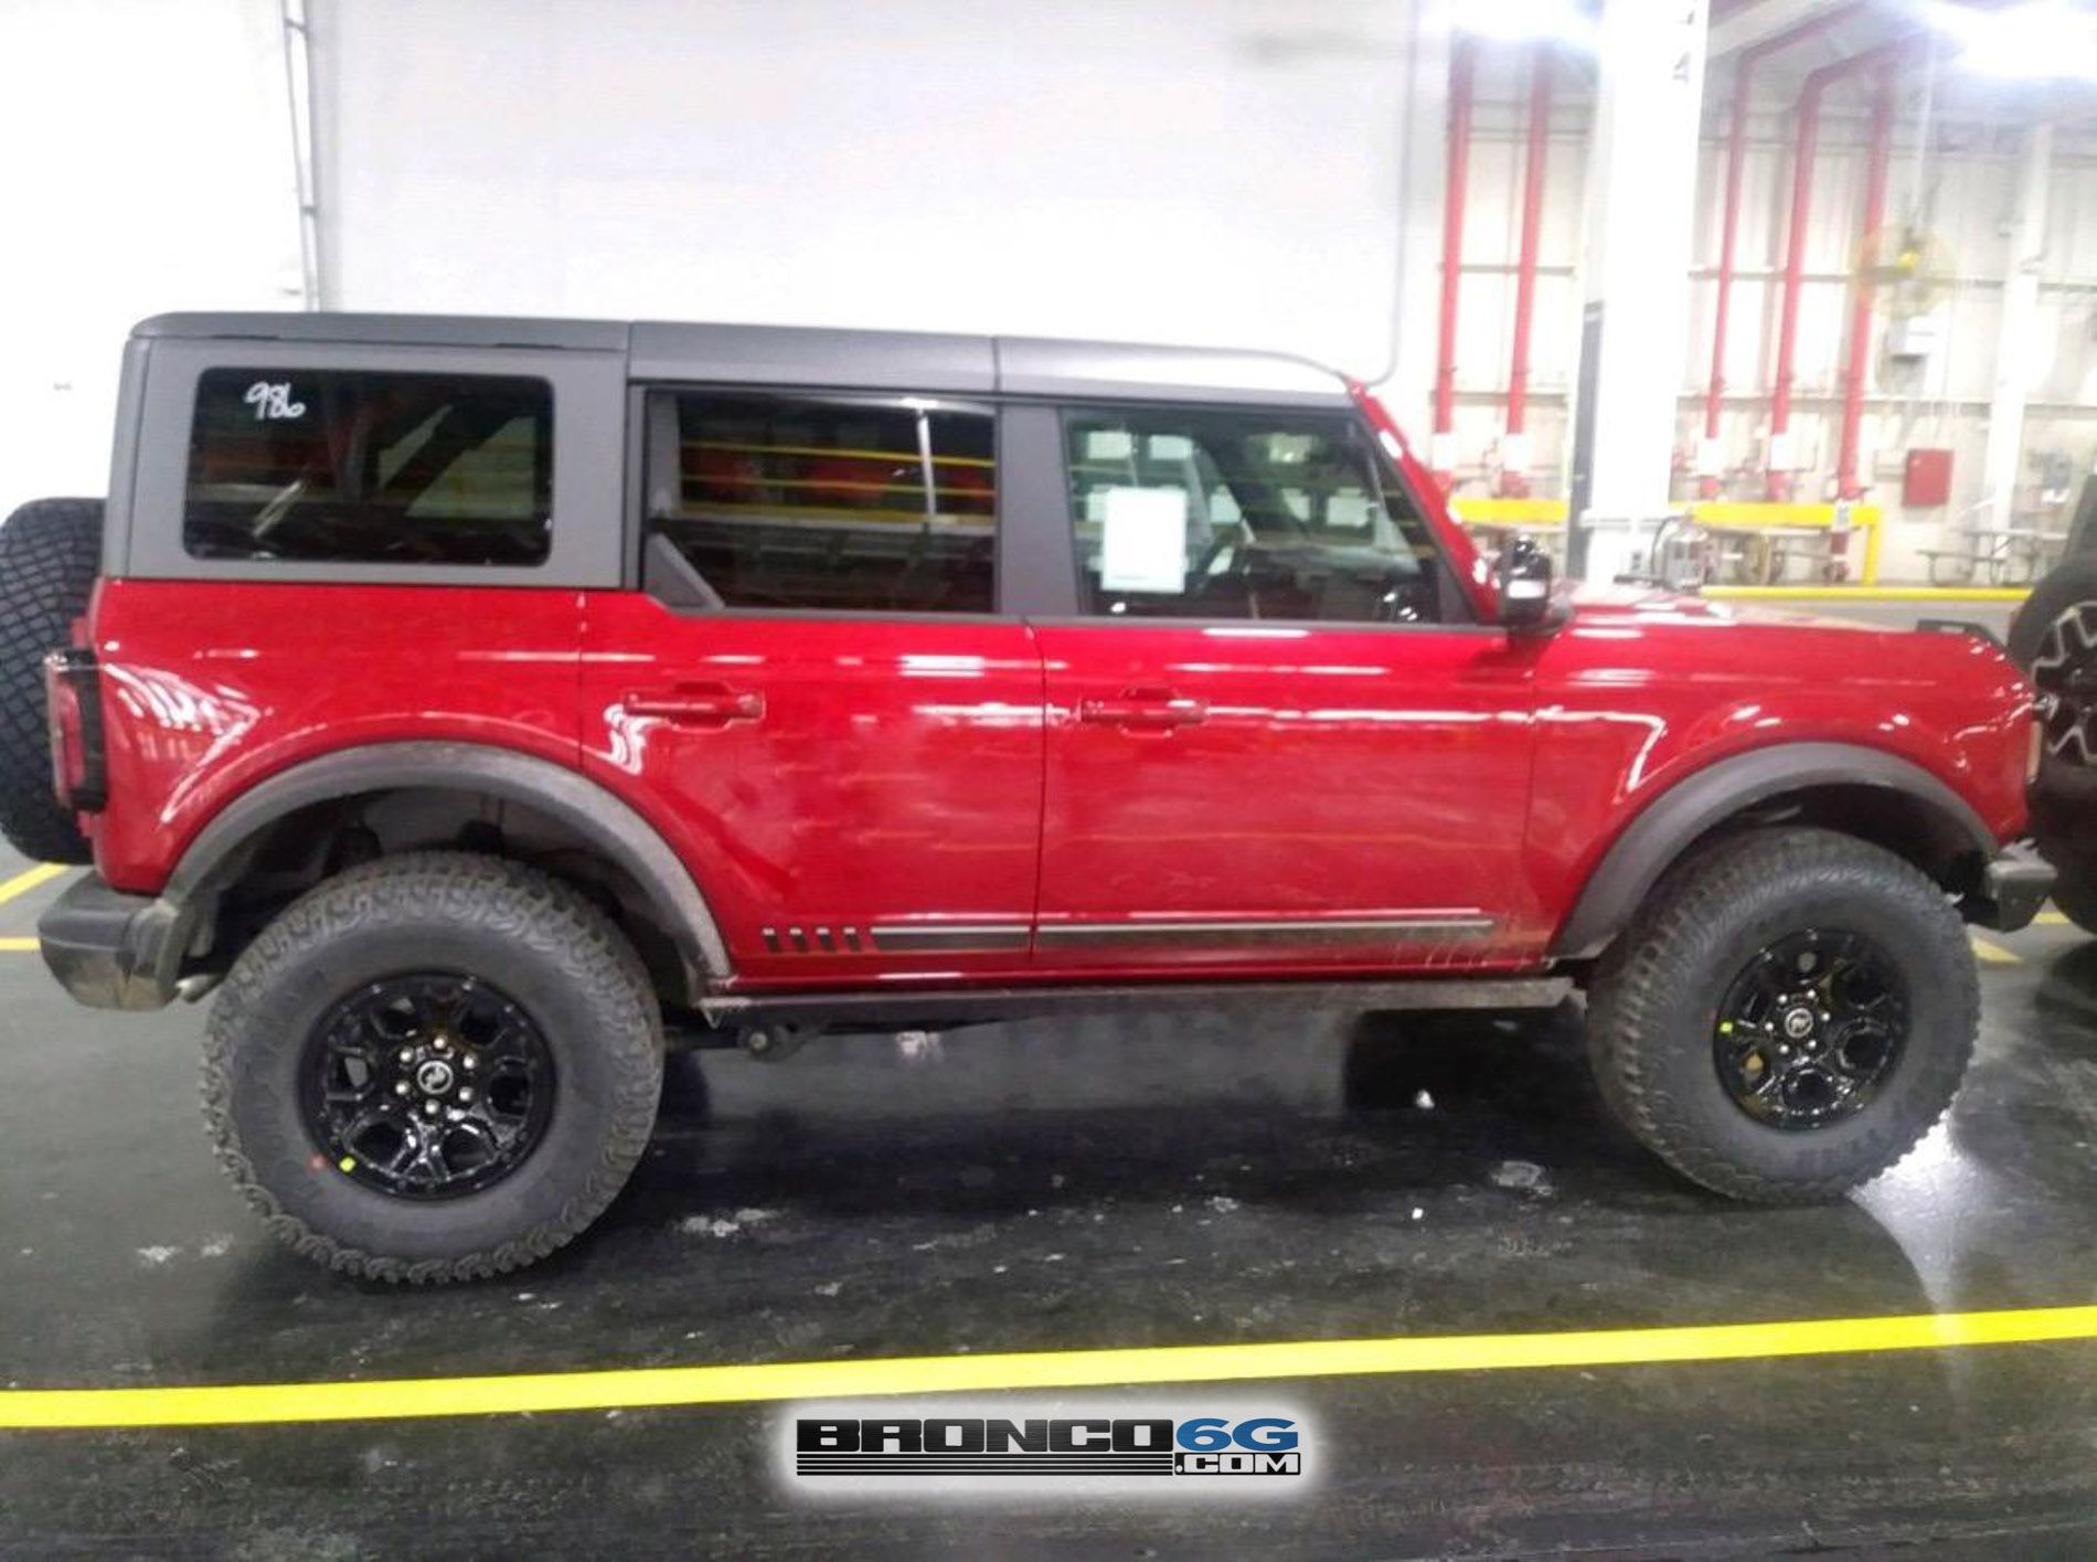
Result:
[[[44,654],[69,642],[101,564],[101,499],[31,499],[0,526],[0,832],[38,862],[92,860],[50,790]]]

